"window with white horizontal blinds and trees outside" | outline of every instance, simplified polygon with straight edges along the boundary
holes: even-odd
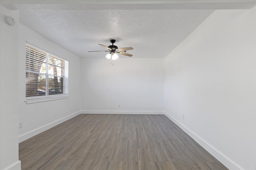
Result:
[[[26,44],[26,97],[68,94],[68,61]]]

